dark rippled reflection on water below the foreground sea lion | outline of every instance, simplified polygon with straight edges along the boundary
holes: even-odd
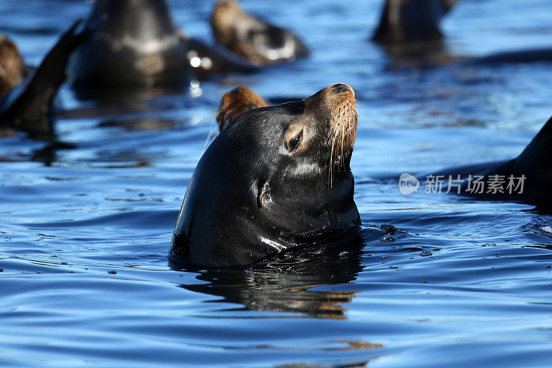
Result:
[[[357,291],[313,290],[354,282],[362,271],[366,243],[382,238],[382,231],[361,228],[327,246],[289,251],[248,269],[201,270],[197,280],[207,284],[181,287],[244,305],[244,310],[302,313],[315,318],[346,318],[342,304]],[[170,264],[179,269],[176,263]],[[188,269],[188,271],[192,271]],[[339,289],[339,288],[338,288]]]

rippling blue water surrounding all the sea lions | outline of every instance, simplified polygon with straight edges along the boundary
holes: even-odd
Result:
[[[243,1],[293,29],[311,57],[137,110],[98,109],[64,86],[62,149],[0,138],[0,365],[552,366],[551,215],[405,196],[396,183],[520,153],[552,115],[552,63],[395,67],[368,41],[381,3]],[[90,6],[3,0],[0,32],[36,65]],[[177,24],[206,41],[212,7],[172,1]],[[464,0],[443,23],[446,46],[459,57],[552,46],[551,18],[549,0]],[[246,271],[170,264],[221,95],[247,84],[268,99],[302,97],[336,82],[359,98],[362,241]],[[382,224],[399,230],[386,235]]]

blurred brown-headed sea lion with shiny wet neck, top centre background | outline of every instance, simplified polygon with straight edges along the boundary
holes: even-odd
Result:
[[[293,33],[244,12],[237,1],[218,1],[211,16],[211,27],[219,44],[255,65],[308,55],[304,43]]]

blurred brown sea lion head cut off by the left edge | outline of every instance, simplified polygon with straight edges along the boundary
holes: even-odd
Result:
[[[25,64],[15,43],[0,35],[0,96],[23,83]]]

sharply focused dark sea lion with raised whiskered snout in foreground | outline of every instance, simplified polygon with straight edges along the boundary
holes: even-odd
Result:
[[[360,224],[350,162],[353,88],[239,115],[188,184],[170,255],[203,266],[249,264]]]

